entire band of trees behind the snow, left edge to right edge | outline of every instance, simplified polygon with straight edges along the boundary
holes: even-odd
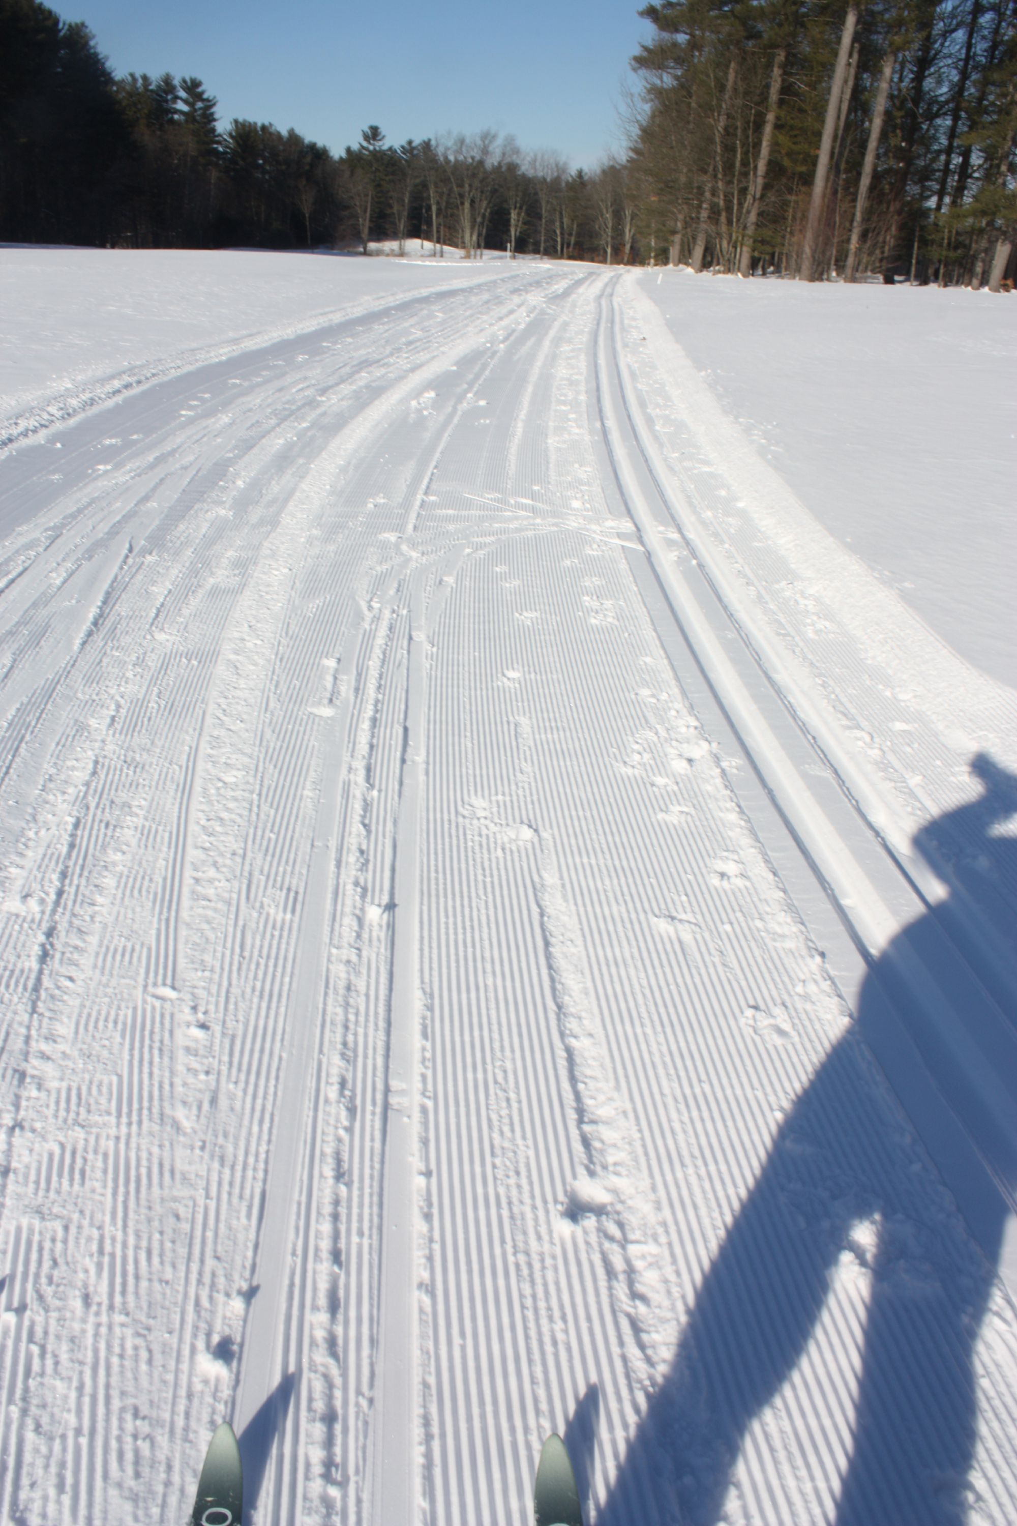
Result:
[[[342,154],[220,122],[195,76],[117,76],[82,23],[0,0],[0,240],[427,240],[743,276],[1012,288],[1017,0],[660,0],[624,143],[590,169],[492,131]],[[611,119],[605,102],[605,125]]]

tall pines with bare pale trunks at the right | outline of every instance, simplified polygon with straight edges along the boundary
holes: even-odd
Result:
[[[650,258],[1014,275],[1015,0],[660,0],[628,172]]]

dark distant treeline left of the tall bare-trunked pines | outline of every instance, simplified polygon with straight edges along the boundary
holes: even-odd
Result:
[[[604,189],[494,133],[401,146],[378,127],[334,156],[264,122],[223,128],[192,76],[116,78],[87,26],[0,0],[0,240],[265,249],[427,237],[592,258],[614,243]],[[611,201],[611,197],[607,197]],[[631,229],[619,250],[631,253]],[[605,232],[607,229],[607,232]]]

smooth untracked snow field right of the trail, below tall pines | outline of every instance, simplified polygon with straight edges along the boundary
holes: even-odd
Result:
[[[1017,302],[686,270],[643,287],[820,523],[1017,684]]]

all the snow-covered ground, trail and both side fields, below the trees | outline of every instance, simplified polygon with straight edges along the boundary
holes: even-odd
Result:
[[[1012,1520],[1011,304],[0,288],[0,1518]]]

